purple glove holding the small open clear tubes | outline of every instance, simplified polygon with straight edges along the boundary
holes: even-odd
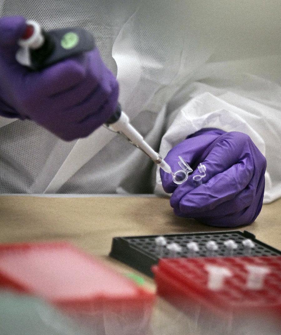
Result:
[[[160,169],[162,185],[173,193],[170,204],[178,216],[221,227],[252,223],[259,215],[264,195],[266,159],[251,138],[240,132],[202,129],[172,148],[165,161],[180,170],[182,156],[194,172],[181,185]],[[197,166],[206,166],[203,184],[196,186]]]

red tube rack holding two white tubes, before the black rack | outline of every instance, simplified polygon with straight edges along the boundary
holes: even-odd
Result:
[[[219,290],[208,288],[207,265],[232,275]],[[269,269],[262,289],[249,289],[247,265]],[[157,293],[195,318],[210,334],[281,333],[281,257],[203,257],[161,259],[152,268]],[[250,332],[252,334],[252,332]]]

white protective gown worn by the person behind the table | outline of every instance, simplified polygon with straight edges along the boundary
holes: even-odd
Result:
[[[0,1],[14,14],[91,31],[124,111],[163,157],[203,127],[241,131],[267,158],[264,201],[281,196],[279,0]],[[163,193],[153,163],[104,127],[72,142],[31,121],[0,127],[0,193]]]

